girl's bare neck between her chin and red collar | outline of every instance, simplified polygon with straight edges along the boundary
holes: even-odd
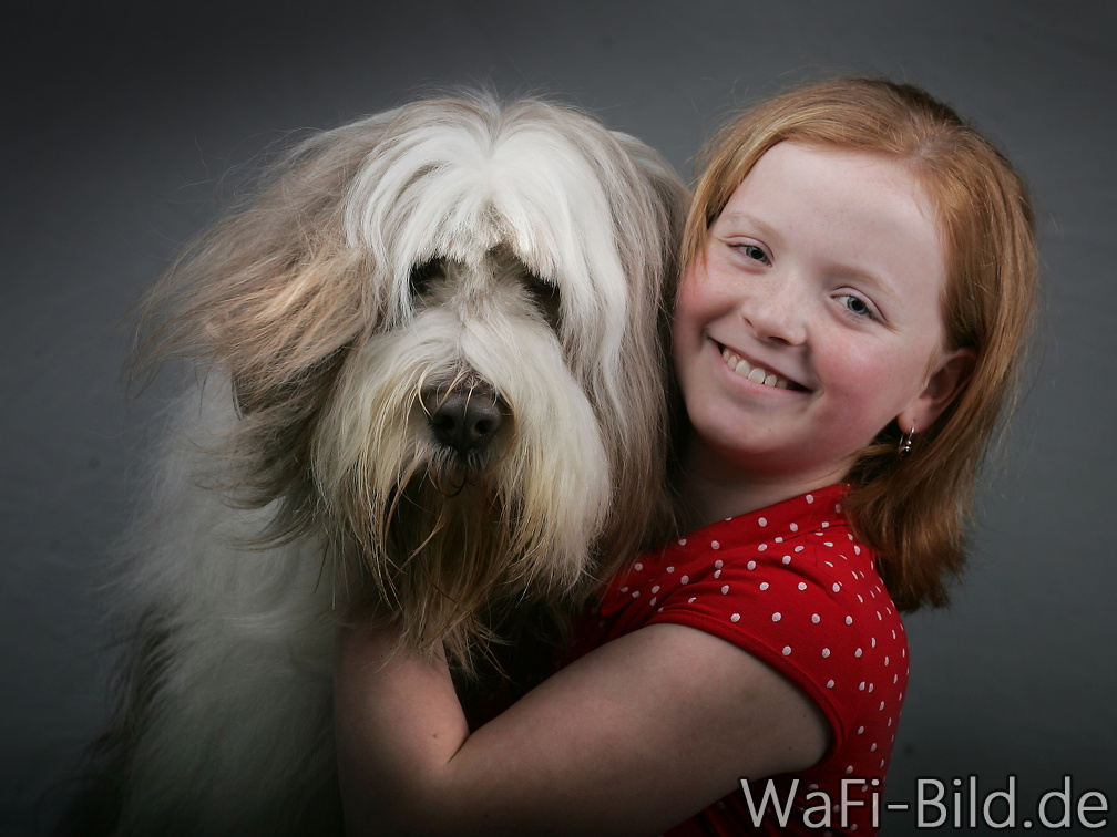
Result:
[[[789,474],[750,471],[695,439],[684,448],[676,478],[679,533],[763,509],[841,480],[834,474]]]

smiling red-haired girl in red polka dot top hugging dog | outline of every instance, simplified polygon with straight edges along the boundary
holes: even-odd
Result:
[[[780,96],[705,160],[674,323],[687,533],[472,731],[443,661],[343,629],[351,833],[875,831],[897,610],[961,567],[1034,307],[1031,209],[987,142],[887,81]]]

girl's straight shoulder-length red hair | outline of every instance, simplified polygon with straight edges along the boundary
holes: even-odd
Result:
[[[944,348],[971,347],[955,401],[897,456],[900,429],[881,429],[848,474],[846,502],[878,554],[901,609],[946,602],[964,562],[964,526],[990,440],[1014,402],[1038,305],[1028,190],[1005,157],[952,108],[910,85],[849,78],[768,99],[724,127],[699,161],[682,258],[699,258],[709,225],[771,147],[794,141],[881,155],[905,165],[936,212],[947,266]]]

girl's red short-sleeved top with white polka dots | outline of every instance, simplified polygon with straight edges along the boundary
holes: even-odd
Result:
[[[842,514],[846,490],[833,485],[718,521],[647,552],[579,623],[579,651],[657,623],[706,631],[781,672],[830,723],[822,761],[776,778],[780,800],[795,787],[785,826],[770,812],[771,821],[755,827],[737,790],[670,835],[876,833],[872,809],[884,799],[908,648],[875,556]],[[751,787],[758,805],[766,785]],[[822,822],[825,797],[837,805],[843,787],[847,799],[865,805],[846,807],[844,827],[842,811]]]

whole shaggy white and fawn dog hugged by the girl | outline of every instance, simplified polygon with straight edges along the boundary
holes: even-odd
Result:
[[[69,833],[338,831],[341,619],[500,671],[661,535],[685,201],[577,110],[446,96],[305,140],[173,266],[137,356],[194,382]]]

